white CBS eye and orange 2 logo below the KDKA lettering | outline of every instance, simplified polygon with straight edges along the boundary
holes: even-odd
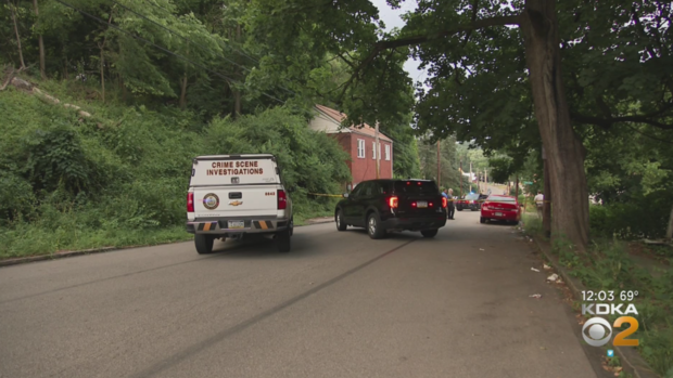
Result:
[[[584,341],[592,347],[602,347],[610,342],[612,327],[619,328],[624,323],[628,323],[628,328],[617,334],[612,344],[615,347],[637,347],[639,344],[638,339],[626,339],[627,336],[638,330],[638,321],[633,316],[620,316],[614,321],[612,326],[602,317],[592,317],[584,323],[582,327],[582,337]]]

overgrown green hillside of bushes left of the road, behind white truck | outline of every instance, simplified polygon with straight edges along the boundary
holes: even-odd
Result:
[[[201,154],[276,154],[299,186],[300,222],[333,209],[306,193],[335,193],[350,179],[336,143],[283,107],[205,123],[173,107],[86,101],[81,88],[40,82],[59,104],[35,90],[0,92],[0,258],[189,238],[186,191]]]

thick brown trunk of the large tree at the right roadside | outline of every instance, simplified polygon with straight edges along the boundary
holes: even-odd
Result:
[[[549,166],[553,237],[567,237],[579,251],[588,246],[585,149],[575,134],[561,79],[555,0],[526,0],[522,31],[535,117]]]

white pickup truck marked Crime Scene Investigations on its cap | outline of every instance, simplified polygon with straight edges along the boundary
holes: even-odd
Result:
[[[292,200],[270,154],[213,155],[193,159],[187,193],[187,232],[196,252],[209,253],[216,238],[268,234],[290,251]]]

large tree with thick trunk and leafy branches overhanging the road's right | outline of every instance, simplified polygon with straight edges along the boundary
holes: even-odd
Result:
[[[389,0],[393,6],[398,3]],[[433,74],[428,80],[432,89],[427,93],[420,90],[416,105],[420,131],[431,131],[437,138],[456,133],[461,140],[475,139],[486,149],[516,146],[519,162],[531,148],[539,151],[536,142],[542,141],[554,198],[563,204],[554,209],[553,231],[584,249],[588,243],[586,151],[584,130],[575,130],[573,122],[611,127],[647,121],[669,127],[662,116],[673,110],[673,65],[666,50],[670,34],[661,30],[670,19],[670,4],[575,0],[563,2],[558,10],[555,0],[420,0],[418,4],[406,15],[406,25],[398,34],[381,30],[377,9],[368,0],[327,4],[318,0],[253,0],[249,12],[255,38],[267,43],[278,41],[272,44],[277,62],[295,54],[295,41],[306,36],[318,55],[330,52],[347,62],[352,79],[341,91],[342,103],[354,122],[395,117],[404,109],[406,103],[393,100],[401,96],[404,75],[391,63],[410,49]],[[606,12],[611,17],[606,17]],[[625,26],[619,27],[620,22]],[[618,44],[618,37],[634,44]],[[567,81],[583,73],[561,69],[560,45],[563,56],[573,60],[569,66],[591,66],[596,73],[594,81],[572,81],[570,95]],[[579,57],[586,51],[593,51],[586,56],[595,61]],[[624,53],[628,53],[626,65],[620,61]],[[642,57],[638,54],[647,56],[632,58]],[[647,60],[651,61],[648,65],[662,68],[663,75],[647,76],[643,63]],[[599,82],[602,66],[596,62],[615,67],[610,80]],[[638,75],[649,80],[633,79],[635,75],[626,66],[637,67]],[[652,82],[661,89],[622,116],[624,110],[618,105],[633,100],[633,95],[618,88],[627,79],[643,91],[652,88]],[[591,106],[580,105],[591,104],[597,89],[601,94],[615,94],[608,99],[613,104],[611,112],[600,117]],[[461,138],[465,135],[472,138]]]

